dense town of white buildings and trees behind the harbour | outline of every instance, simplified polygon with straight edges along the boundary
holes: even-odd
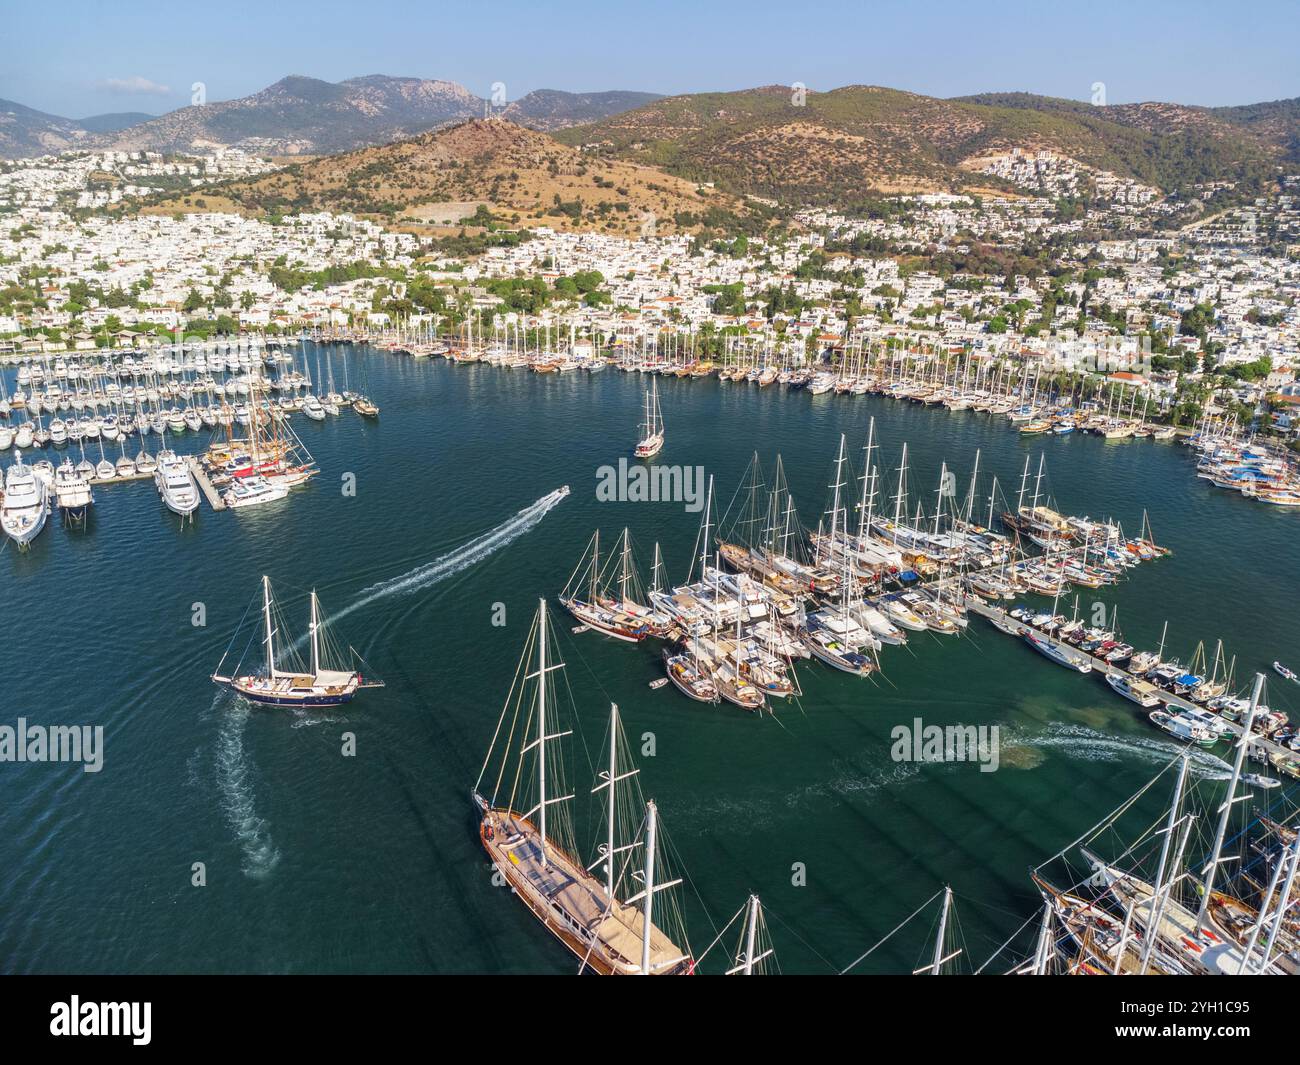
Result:
[[[136,348],[177,330],[446,332],[467,317],[480,334],[576,330],[598,346],[737,337],[810,364],[901,337],[1049,372],[1121,352],[1126,384],[1175,420],[1231,412],[1300,430],[1300,177],[1169,229],[1169,198],[1069,163],[1013,152],[989,169],[1022,194],[809,208],[766,235],[537,228],[465,254],[348,215],[244,217],[202,199],[151,212],[157,192],[272,165],[234,150],[47,156],[0,173],[0,355]],[[486,204],[469,221],[500,233]]]

